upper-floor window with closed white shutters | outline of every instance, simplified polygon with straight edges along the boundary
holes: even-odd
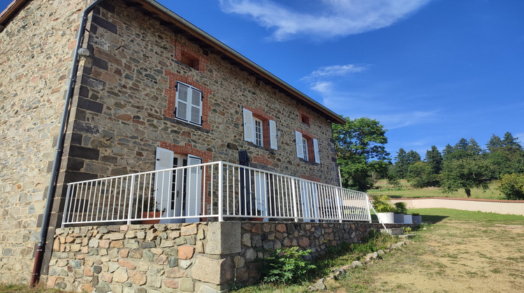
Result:
[[[189,84],[177,82],[175,118],[202,125],[202,91]]]

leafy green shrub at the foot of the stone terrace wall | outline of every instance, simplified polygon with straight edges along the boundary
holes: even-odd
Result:
[[[316,266],[304,260],[311,249],[298,250],[298,247],[275,250],[263,260],[262,277],[264,283],[289,284],[298,283]]]

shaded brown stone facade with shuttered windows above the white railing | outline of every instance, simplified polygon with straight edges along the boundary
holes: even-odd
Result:
[[[154,170],[156,148],[168,145],[191,149],[182,155],[203,152],[205,160],[231,163],[245,149],[253,167],[336,183],[325,117],[122,1],[103,1],[91,21],[86,46],[92,55],[71,111],[66,182]],[[188,54],[198,66],[177,59]],[[174,119],[177,81],[203,91],[202,126]],[[277,122],[278,150],[244,140],[243,107]],[[310,125],[300,121],[299,110]],[[321,164],[296,156],[296,130],[318,139]]]

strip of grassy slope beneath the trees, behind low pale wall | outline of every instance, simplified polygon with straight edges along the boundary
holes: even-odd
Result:
[[[506,198],[497,187],[497,182],[492,182],[488,190],[479,188],[472,188],[472,196],[470,198],[485,199],[485,200],[505,200]],[[442,193],[440,188],[413,188],[405,180],[400,180],[400,187],[394,187],[388,184],[387,180],[379,180],[374,185],[374,189],[367,190],[369,195],[387,195],[391,198],[421,198],[421,197],[453,197],[453,198],[467,198],[464,190],[458,190],[454,193]]]

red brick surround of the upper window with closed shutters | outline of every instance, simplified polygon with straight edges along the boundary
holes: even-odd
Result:
[[[209,123],[209,113],[211,111],[211,107],[209,106],[209,96],[211,95],[212,91],[208,87],[204,87],[202,84],[199,84],[196,82],[193,77],[191,76],[184,76],[177,73],[173,73],[170,70],[164,70],[164,74],[168,77],[168,88],[164,91],[166,93],[166,96],[168,96],[168,105],[166,108],[163,109],[163,116],[171,118],[171,119],[177,119],[175,117],[175,108],[176,100],[177,100],[177,84],[179,82],[182,82],[184,84],[189,84],[189,86],[194,87],[195,89],[198,89],[198,91],[201,91],[203,100],[201,101],[201,107],[202,107],[202,128],[210,130],[211,126]]]

